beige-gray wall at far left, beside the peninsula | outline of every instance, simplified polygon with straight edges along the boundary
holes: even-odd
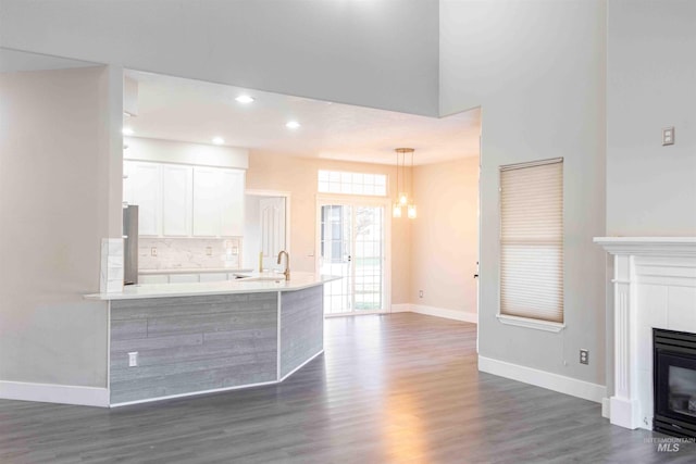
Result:
[[[0,74],[0,380],[105,387],[110,73]]]

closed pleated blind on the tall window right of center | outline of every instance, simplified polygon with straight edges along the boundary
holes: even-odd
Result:
[[[563,160],[500,167],[500,314],[563,322]]]

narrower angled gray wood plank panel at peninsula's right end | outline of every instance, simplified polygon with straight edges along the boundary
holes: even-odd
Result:
[[[281,378],[323,350],[323,287],[281,294]]]

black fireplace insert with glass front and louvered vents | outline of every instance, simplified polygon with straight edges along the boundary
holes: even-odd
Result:
[[[696,334],[652,329],[656,431],[696,438]]]

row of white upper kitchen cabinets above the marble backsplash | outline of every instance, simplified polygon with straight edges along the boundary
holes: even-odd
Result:
[[[244,171],[139,161],[124,161],[123,171],[123,199],[139,206],[141,236],[244,235]]]

